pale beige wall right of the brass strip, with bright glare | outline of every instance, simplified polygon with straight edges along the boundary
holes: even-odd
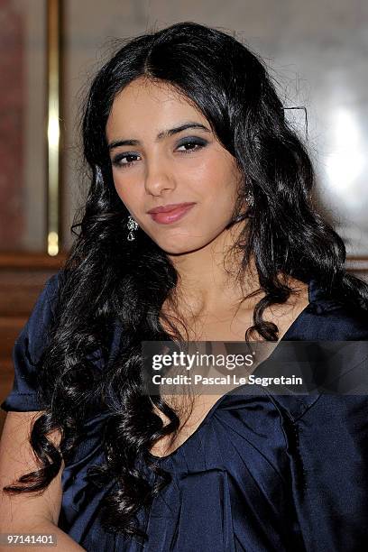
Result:
[[[318,188],[349,252],[368,255],[368,3],[352,0],[110,0],[67,2],[65,124],[69,148],[78,90],[109,38],[192,20],[236,32],[266,60],[284,106],[305,106]],[[108,6],[106,8],[106,6]],[[105,50],[102,49],[105,45]],[[108,50],[107,50],[108,51]],[[287,111],[305,135],[304,112]],[[64,233],[78,201],[72,156],[65,168]]]

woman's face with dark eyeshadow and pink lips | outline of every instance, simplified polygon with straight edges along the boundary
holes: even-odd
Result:
[[[136,79],[115,97],[106,139],[119,197],[162,250],[189,253],[224,232],[240,174],[189,101],[166,84]],[[183,203],[192,205],[149,213]]]

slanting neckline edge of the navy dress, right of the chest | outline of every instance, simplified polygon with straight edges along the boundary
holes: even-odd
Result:
[[[319,298],[322,298],[324,295],[324,291],[319,288],[317,286],[317,282],[313,279],[311,279],[310,281],[308,281],[308,305],[306,305],[305,308],[303,308],[303,310],[301,310],[299,312],[299,315],[298,317],[296,317],[293,322],[290,324],[290,327],[287,329],[287,331],[285,332],[285,334],[281,337],[281,339],[278,341],[278,343],[280,343],[281,341],[287,341],[290,336],[292,336],[295,331],[297,330],[297,328],[299,327],[299,324],[300,322],[303,320],[303,318],[305,317],[305,315],[310,311],[310,309],[312,308],[312,304],[315,304],[317,302],[317,300]],[[276,345],[276,347],[272,350],[271,354],[269,354],[269,356],[264,360],[262,361],[261,363],[258,364],[258,366],[256,367],[255,371],[256,372],[257,370],[259,370],[262,365],[264,363],[267,363],[271,360],[271,357],[273,354],[275,354],[275,351],[276,349],[279,347],[279,345]],[[246,383],[245,383],[246,385]],[[222,395],[221,397],[219,397],[219,399],[216,400],[216,402],[212,405],[212,407],[208,410],[206,416],[204,419],[202,419],[202,421],[200,422],[200,424],[198,425],[198,428],[196,428],[193,433],[191,433],[189,435],[189,437],[187,437],[185,439],[185,441],[183,441],[181,443],[181,445],[177,446],[173,451],[170,452],[169,455],[164,455],[164,456],[157,456],[157,455],[152,455],[152,453],[150,451],[147,451],[147,455],[154,461],[158,461],[158,462],[162,462],[164,460],[169,460],[172,456],[174,455],[177,455],[179,453],[180,450],[182,450],[186,445],[187,443],[189,442],[190,439],[194,438],[197,434],[198,434],[198,431],[203,428],[203,426],[205,424],[207,424],[208,420],[212,417],[212,415],[214,414],[214,412],[216,411],[216,409],[218,408],[218,406],[223,402],[223,400],[225,400],[227,397],[231,396],[232,394],[235,393],[235,391],[241,389],[243,386],[240,385],[238,387],[235,387],[234,389],[230,390],[230,391],[227,391],[226,393],[224,393],[224,395]]]

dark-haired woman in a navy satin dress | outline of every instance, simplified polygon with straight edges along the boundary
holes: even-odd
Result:
[[[80,231],[14,345],[1,530],[109,552],[368,544],[366,396],[187,411],[143,389],[143,341],[368,338],[367,285],[262,61],[198,23],[139,36],[94,79],[83,138]]]

